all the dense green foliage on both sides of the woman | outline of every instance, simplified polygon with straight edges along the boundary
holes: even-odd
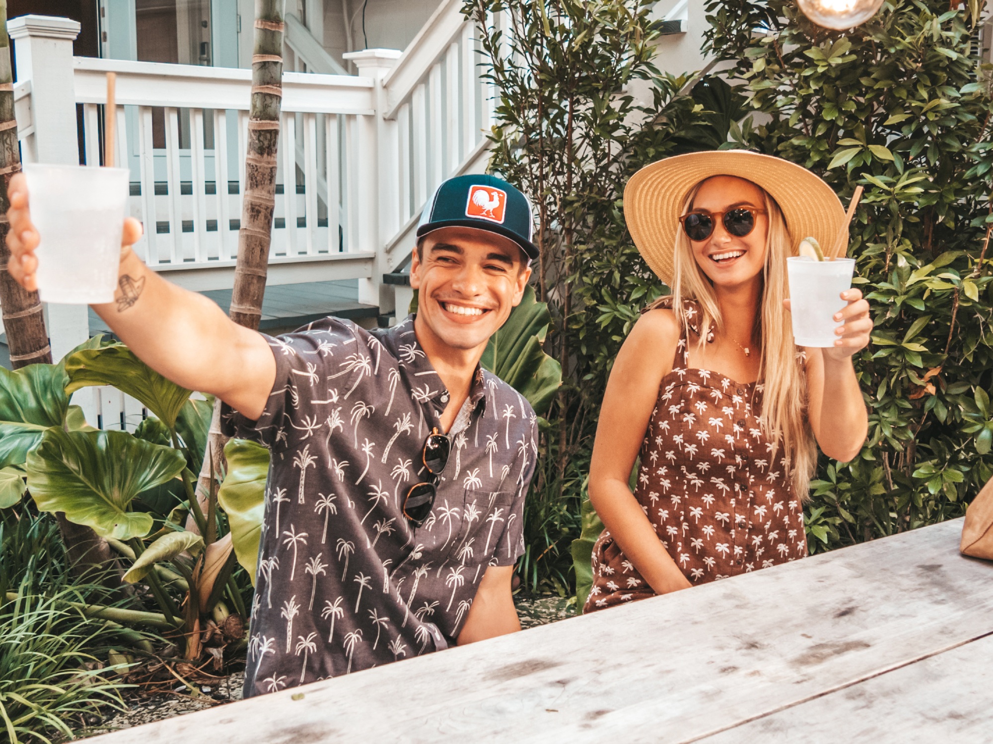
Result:
[[[623,193],[669,155],[747,148],[822,176],[847,203],[857,285],[875,310],[856,359],[870,438],[822,458],[807,504],[812,552],[959,516],[989,457],[991,108],[981,3],[888,0],[845,33],[791,0],[707,0],[720,76],[662,74],[645,0],[468,0],[498,91],[491,171],[538,217],[535,291],[564,383],[542,431],[518,568],[571,593],[571,542],[612,360],[638,310],[667,289],[638,257]],[[506,32],[512,33],[506,33]],[[636,96],[635,89],[648,90]]]

